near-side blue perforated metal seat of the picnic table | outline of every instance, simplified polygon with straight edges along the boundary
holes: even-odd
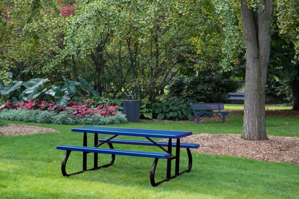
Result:
[[[153,153],[153,152],[144,152],[144,151],[82,147],[82,146],[74,146],[74,145],[59,145],[56,146],[56,149],[82,151],[82,152],[89,152],[89,153],[115,154],[115,155],[123,155],[123,156],[138,156],[138,157],[147,157],[147,158],[163,158],[163,159],[170,158],[169,153]]]

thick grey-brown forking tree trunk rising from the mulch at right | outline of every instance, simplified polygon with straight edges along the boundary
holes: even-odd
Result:
[[[242,139],[266,140],[265,87],[270,55],[272,0],[262,0],[264,10],[248,8],[241,0],[246,50],[244,123]]]

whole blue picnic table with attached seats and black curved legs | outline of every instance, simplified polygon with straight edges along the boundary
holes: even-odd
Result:
[[[72,128],[72,132],[82,132],[83,133],[83,146],[74,146],[74,145],[58,145],[56,148],[60,150],[66,150],[65,157],[62,161],[61,171],[62,175],[70,176],[79,174],[88,170],[97,170],[103,167],[109,167],[114,164],[115,155],[124,155],[124,156],[138,156],[138,157],[148,157],[155,158],[150,172],[150,182],[152,186],[158,186],[164,181],[169,181],[172,178],[176,178],[185,172],[190,172],[192,167],[192,155],[190,148],[198,148],[199,144],[193,143],[181,143],[180,138],[192,135],[190,131],[174,131],[174,130],[150,130],[150,129],[132,129],[132,128],[113,128],[113,127],[98,127],[98,126],[89,126],[89,127],[79,127]],[[94,147],[87,146],[87,134],[94,133]],[[110,138],[98,139],[98,134],[108,134],[113,135]],[[117,136],[138,136],[145,137],[147,140],[134,140],[134,139],[115,139]],[[168,142],[155,142],[151,138],[167,138]],[[172,139],[176,139],[176,142],[172,142]],[[103,144],[108,144],[109,148],[100,148]],[[114,149],[112,144],[132,144],[132,145],[145,145],[145,146],[156,146],[163,150],[164,153],[153,153],[145,151],[132,151],[132,150],[120,150]],[[167,147],[165,149],[164,147]],[[173,155],[172,147],[176,148],[176,153]],[[180,148],[187,149],[187,155],[189,159],[187,170],[180,172],[179,162],[180,162]],[[66,162],[71,151],[80,151],[83,152],[83,170],[79,172],[74,172],[67,174],[65,171]],[[94,153],[94,167],[87,169],[87,153]],[[98,166],[98,153],[111,154],[111,161],[109,164]],[[157,167],[158,159],[167,159],[167,170],[166,178],[162,181],[155,182],[155,170]],[[175,175],[171,175],[171,161],[175,161]]]

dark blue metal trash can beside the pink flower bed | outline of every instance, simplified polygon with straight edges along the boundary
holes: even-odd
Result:
[[[127,95],[123,100],[123,114],[129,122],[140,122],[140,100],[132,99],[136,95]]]

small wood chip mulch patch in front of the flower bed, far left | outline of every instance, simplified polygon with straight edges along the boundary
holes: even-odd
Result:
[[[40,126],[29,126],[29,125],[16,125],[9,124],[5,127],[0,127],[1,136],[16,136],[16,135],[25,135],[33,133],[59,133],[59,131],[45,128]]]

